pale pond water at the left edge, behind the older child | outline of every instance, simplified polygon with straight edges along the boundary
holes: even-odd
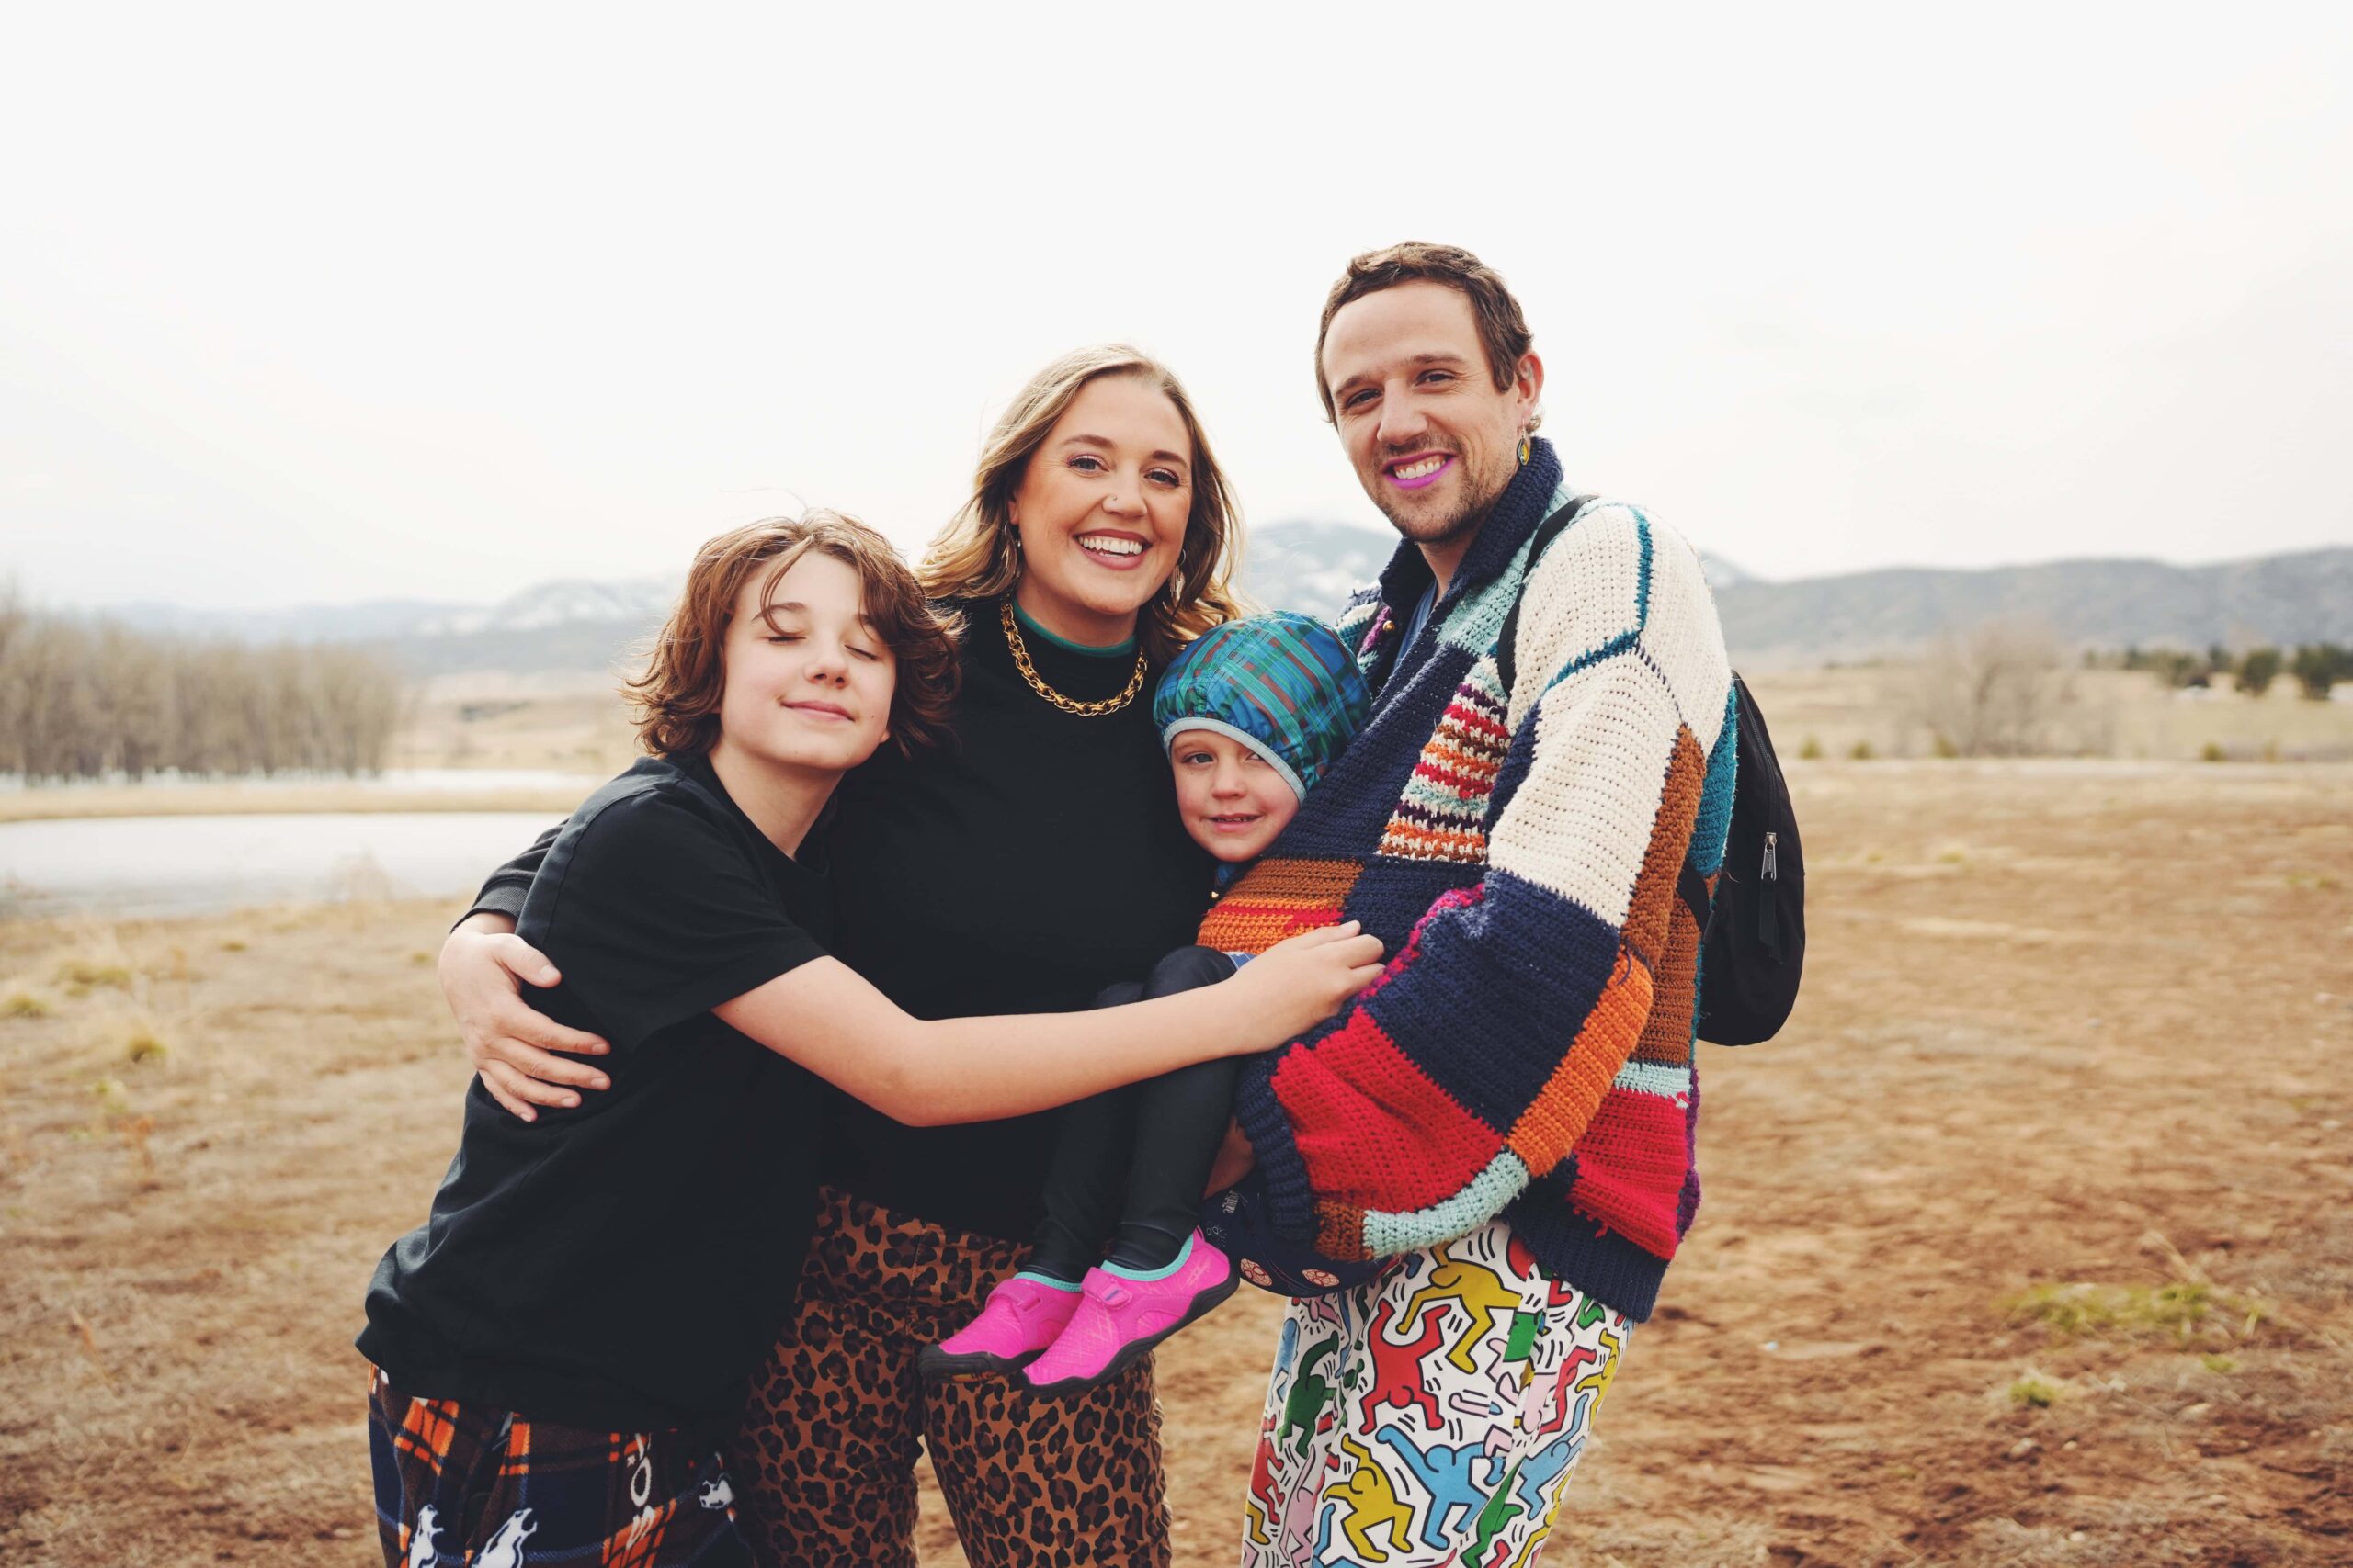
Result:
[[[0,823],[0,919],[209,914],[464,893],[548,811],[320,811]]]

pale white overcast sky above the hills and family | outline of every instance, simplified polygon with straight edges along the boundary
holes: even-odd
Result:
[[[1377,524],[1311,348],[1400,237],[1518,289],[1579,487],[1767,576],[2353,541],[2353,7],[781,9],[16,7],[0,574],[918,548],[1096,339],[1252,522]]]

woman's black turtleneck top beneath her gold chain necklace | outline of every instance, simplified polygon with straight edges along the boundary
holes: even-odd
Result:
[[[1080,717],[1014,665],[998,602],[965,611],[953,736],[904,757],[887,743],[835,790],[833,952],[915,1018],[1059,1013],[1144,976],[1193,940],[1209,856],[1176,820],[1151,682],[1115,715]],[[1115,696],[1134,646],[1092,651],[1024,623],[1038,677],[1075,701]],[[546,839],[499,867],[475,907],[513,914]],[[828,1180],[908,1218],[1028,1239],[1052,1117],[908,1128],[840,1091]]]

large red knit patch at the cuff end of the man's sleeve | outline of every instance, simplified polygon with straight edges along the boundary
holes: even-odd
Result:
[[[1353,1208],[1428,1208],[1504,1150],[1362,1006],[1313,1048],[1287,1053],[1271,1086],[1308,1182]]]

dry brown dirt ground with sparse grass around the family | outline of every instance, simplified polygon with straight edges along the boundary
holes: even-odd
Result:
[[[1544,1561],[2353,1561],[2353,769],[1793,783],[1807,992],[1704,1048],[1708,1199]],[[0,926],[0,1561],[376,1561],[348,1345],[456,1135],[447,914]],[[1275,1319],[1160,1359],[1181,1563]]]

